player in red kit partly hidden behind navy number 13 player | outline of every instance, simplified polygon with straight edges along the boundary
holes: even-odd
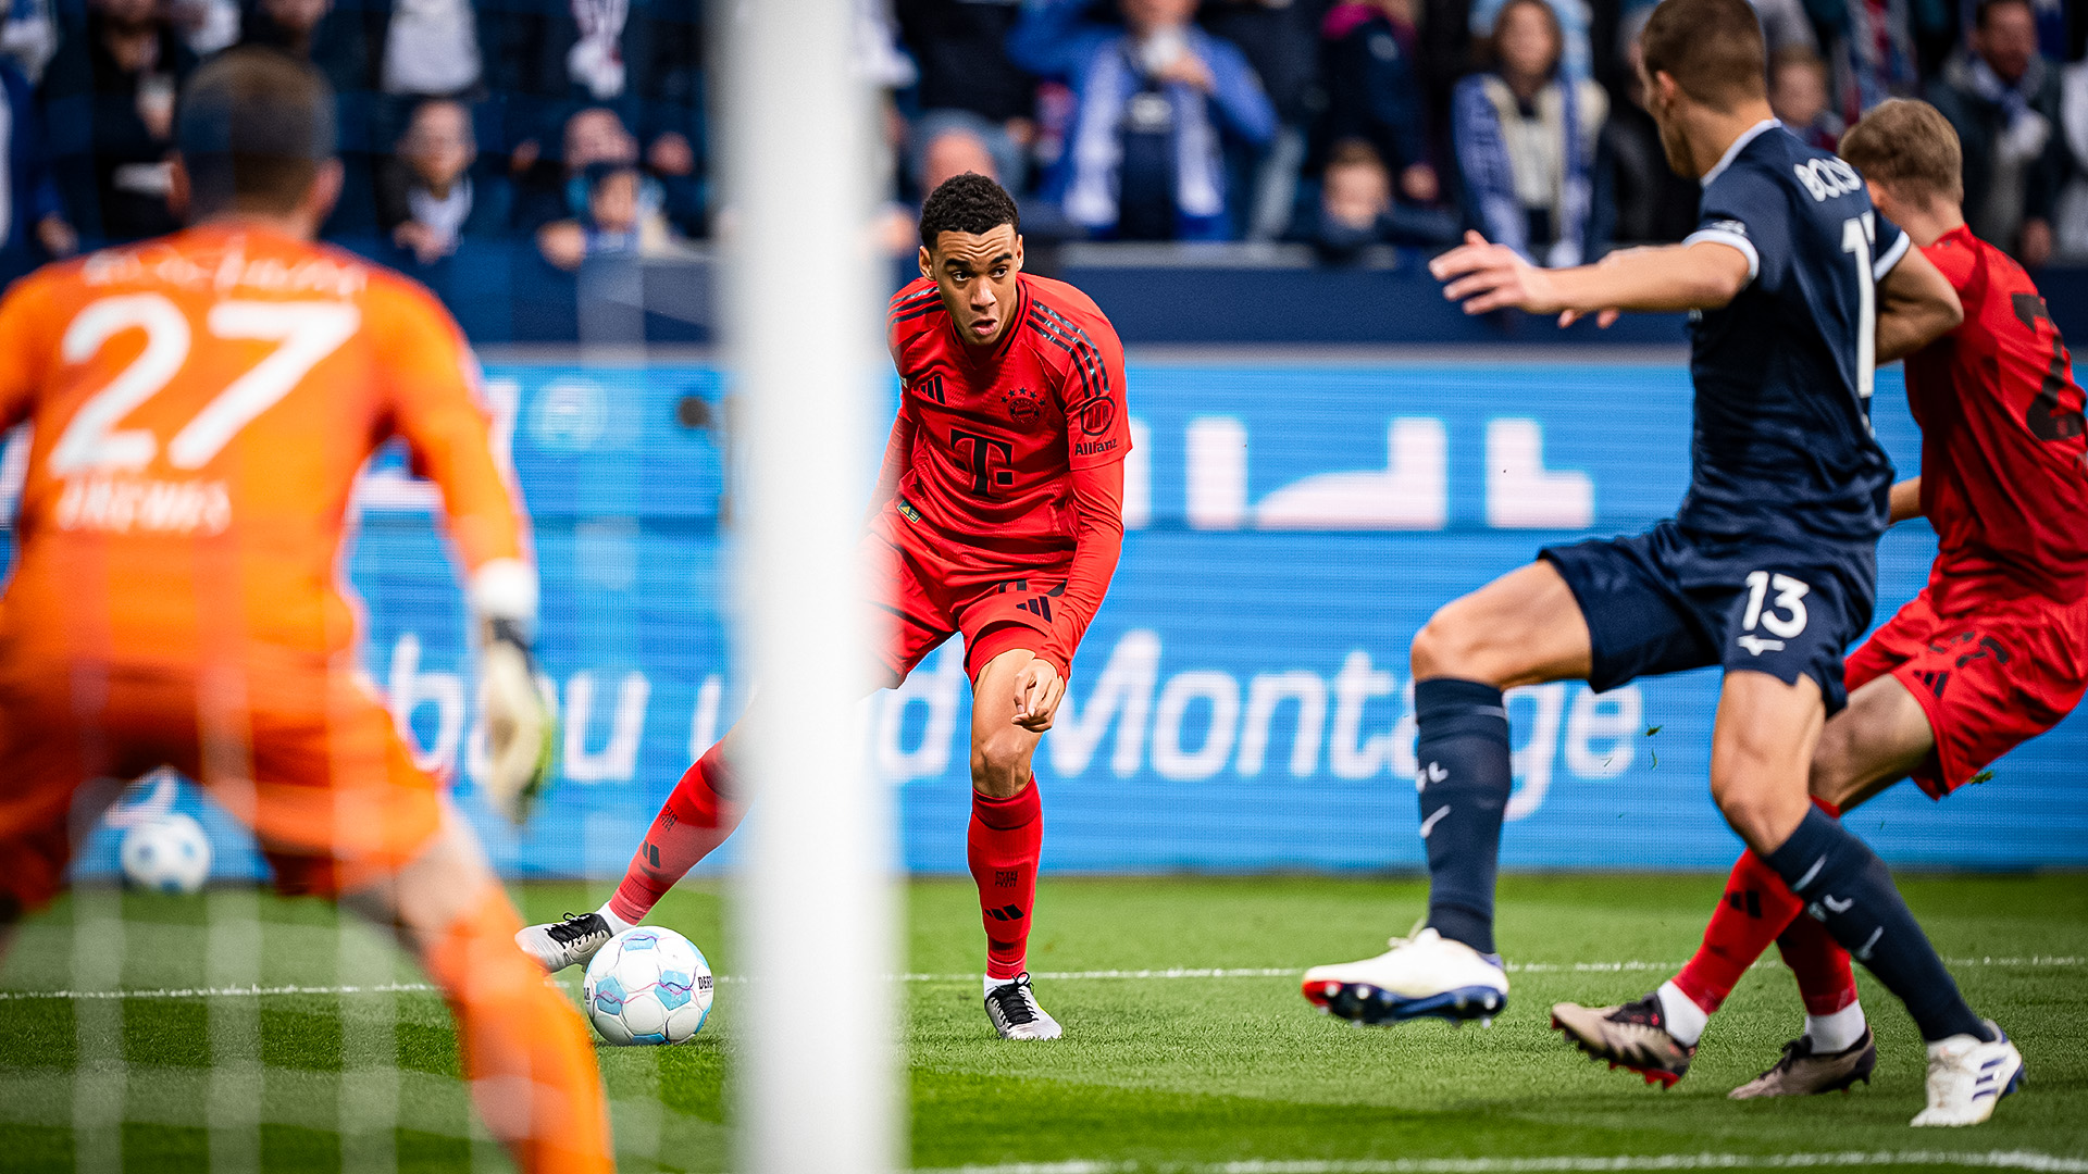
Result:
[[[2021,265],[1965,228],[1959,140],[1933,107],[1883,102],[1848,132],[1842,157],[1956,288],[1965,322],[1906,359],[1921,476],[1892,487],[1892,520],[1925,516],[1940,549],[1921,595],[1848,658],[1850,704],[1812,758],[1812,800],[1831,815],[1906,777],[1940,800],[2057,725],[2088,687],[2088,422],[2067,345]],[[1658,1022],[1566,1003],[1553,1024],[1597,1059],[1672,1084],[1708,1015],[1775,940],[1798,976],[1806,1034],[1733,1097],[1869,1080],[1877,1044],[1848,953],[1802,911],[1748,852],[1704,946],[1654,994]],[[1931,1065],[1923,1116],[1936,1120],[1917,1124],[1977,1124],[2004,1093],[1977,1072],[1954,1080],[1963,1086],[1938,1088]]]

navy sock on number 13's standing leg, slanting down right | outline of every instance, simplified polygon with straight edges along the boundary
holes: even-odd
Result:
[[[1971,1013],[1944,961],[1936,957],[1936,946],[1906,911],[1885,861],[1840,821],[1808,806],[1798,831],[1769,854],[1769,867],[1777,869],[1783,884],[1806,902],[1806,913],[1821,919],[1842,948],[1906,1003],[1923,1040],[1990,1038],[1986,1024]]]

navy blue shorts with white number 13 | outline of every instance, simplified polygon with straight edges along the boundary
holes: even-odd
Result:
[[[1785,685],[1812,677],[1827,712],[1848,704],[1842,650],[1871,627],[1877,547],[1794,551],[1693,535],[1672,520],[1643,535],[1545,547],[1581,604],[1597,694],[1637,677],[1723,664]]]

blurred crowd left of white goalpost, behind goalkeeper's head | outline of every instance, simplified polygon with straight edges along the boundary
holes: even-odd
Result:
[[[326,236],[405,267],[468,240],[549,265],[706,232],[695,0],[0,0],[0,282],[173,228],[175,100],[267,44],[336,90]]]

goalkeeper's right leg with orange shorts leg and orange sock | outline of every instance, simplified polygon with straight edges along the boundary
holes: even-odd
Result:
[[[255,829],[276,886],[338,898],[416,955],[455,1015],[478,1111],[522,1170],[610,1170],[587,1028],[516,948],[522,919],[390,712],[349,675],[251,675],[244,696],[271,706],[203,698],[203,781]]]

